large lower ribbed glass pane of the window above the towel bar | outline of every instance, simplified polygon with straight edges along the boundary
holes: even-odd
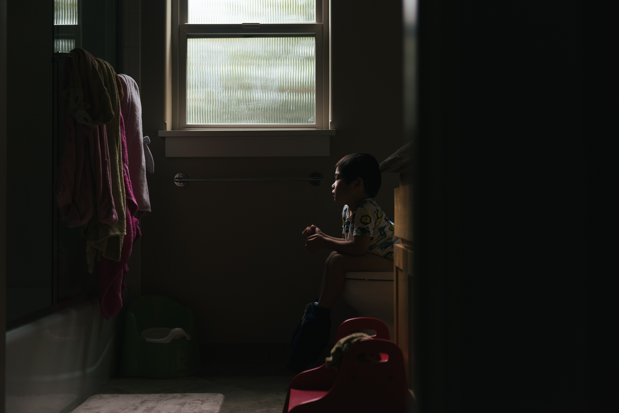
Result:
[[[187,124],[315,124],[314,37],[188,38]]]

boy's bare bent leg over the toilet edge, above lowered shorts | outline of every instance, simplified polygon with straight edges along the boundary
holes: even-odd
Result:
[[[393,260],[369,252],[360,256],[332,252],[324,265],[318,299],[320,307],[333,307],[344,289],[344,273],[347,271],[393,271]]]

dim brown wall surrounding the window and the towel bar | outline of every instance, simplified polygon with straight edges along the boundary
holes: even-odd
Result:
[[[335,163],[354,152],[384,160],[402,145],[401,2],[333,2],[331,155],[298,158],[165,158],[165,28],[169,1],[142,7],[141,96],[151,137],[153,212],[142,219],[142,293],[165,294],[194,311],[202,343],[287,343],[316,296],[329,251],[308,253],[301,231],[341,231],[333,203]],[[368,35],[360,22],[380,30]],[[376,34],[378,33],[378,34]],[[154,138],[153,138],[154,137]],[[191,182],[191,177],[305,177],[326,182]],[[397,174],[376,198],[393,216]]]

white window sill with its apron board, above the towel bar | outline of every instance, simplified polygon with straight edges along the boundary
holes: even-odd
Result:
[[[329,156],[334,129],[160,130],[168,158]]]

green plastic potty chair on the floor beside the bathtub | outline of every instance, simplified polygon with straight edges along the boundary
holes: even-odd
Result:
[[[123,375],[180,377],[199,366],[191,310],[165,296],[142,296],[131,304],[124,325]]]

